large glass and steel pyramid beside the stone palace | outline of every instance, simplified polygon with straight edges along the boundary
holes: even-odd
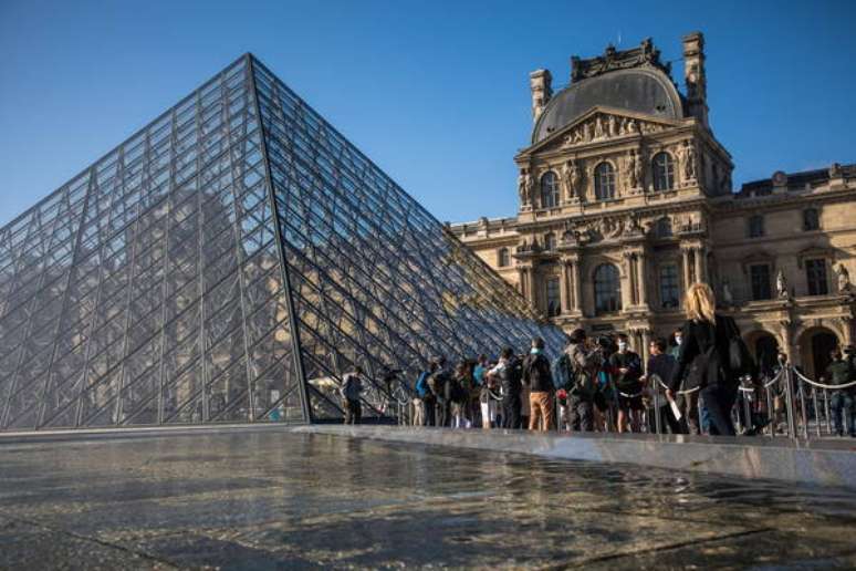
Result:
[[[368,416],[563,333],[251,54],[0,229],[0,429]],[[396,393],[396,394],[393,394]]]

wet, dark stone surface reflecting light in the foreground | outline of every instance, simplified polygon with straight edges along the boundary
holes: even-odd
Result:
[[[0,569],[856,568],[856,492],[294,434],[0,444]]]

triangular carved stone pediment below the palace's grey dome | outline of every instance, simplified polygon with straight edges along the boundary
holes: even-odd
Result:
[[[650,135],[679,125],[678,122],[655,120],[638,113],[596,106],[544,141],[523,149],[518,156],[531,156],[536,153],[551,153]]]

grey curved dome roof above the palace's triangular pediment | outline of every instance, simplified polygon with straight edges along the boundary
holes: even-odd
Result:
[[[535,123],[532,144],[545,139],[596,105],[655,117],[683,117],[683,104],[671,80],[654,68],[617,70],[572,83],[556,93]]]

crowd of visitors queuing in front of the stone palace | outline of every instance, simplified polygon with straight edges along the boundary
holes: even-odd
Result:
[[[650,341],[647,363],[628,335],[589,338],[583,329],[571,333],[559,355],[546,354],[544,341],[535,338],[525,353],[503,347],[495,361],[479,355],[449,366],[435,357],[416,380],[413,424],[733,436],[741,382],[760,378],[755,363],[734,320],[716,312],[709,286],[691,286],[685,308],[687,320],[670,340]],[[827,370],[836,386],[856,378],[853,353],[846,360],[841,353],[836,350]],[[780,360],[780,366],[786,365]],[[346,377],[343,390],[351,423],[359,422],[357,382],[358,374]],[[744,403],[761,403],[742,390]],[[743,434],[775,422],[772,412],[756,413],[738,407]],[[832,414],[838,434],[845,424],[856,434],[856,386],[833,392]]]

